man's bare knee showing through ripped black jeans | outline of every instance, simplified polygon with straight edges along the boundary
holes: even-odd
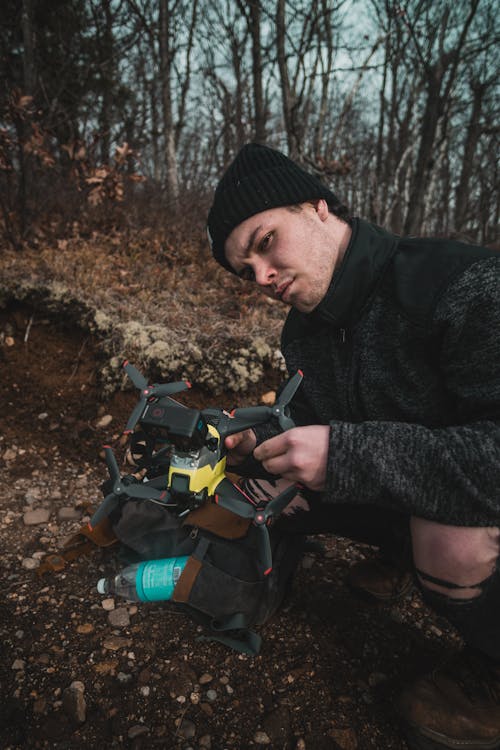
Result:
[[[495,570],[500,529],[449,526],[413,517],[413,559],[420,584],[454,599],[479,596]]]

